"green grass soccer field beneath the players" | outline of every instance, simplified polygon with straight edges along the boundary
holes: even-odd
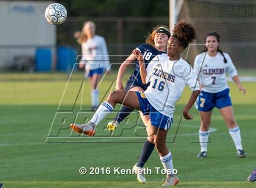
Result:
[[[115,76],[108,75],[104,79],[100,86],[101,96],[111,89]],[[61,125],[58,119],[52,124],[66,86],[66,75],[2,74],[0,79],[0,181],[5,183],[5,187],[161,186],[160,181],[165,175],[156,174],[154,170],[155,167],[162,167],[156,151],[146,164],[146,167],[152,169],[152,174],[146,175],[146,184],[138,184],[136,175],[113,174],[114,167],[131,169],[140,155],[145,140],[144,129],[140,127],[140,136],[135,136],[134,130],[138,127],[131,126],[136,121],[137,113],[130,116],[129,122],[118,127],[116,135],[112,136],[115,138],[106,137],[109,135],[103,129],[106,123],[100,124],[94,143],[89,143],[91,139],[85,136],[77,136],[76,133],[71,133],[70,136],[70,130],[66,127],[69,121],[73,121],[73,115],[67,115]],[[74,75],[66,87],[59,110],[76,114],[81,109],[86,112],[90,108],[87,82],[82,85],[80,95],[77,95],[81,81],[82,74]],[[229,85],[246,158],[236,158],[233,141],[218,110],[215,110],[208,158],[197,159],[199,113],[193,108],[191,113],[194,119],[182,119],[178,127],[180,112],[190,90],[186,89],[177,102],[174,126],[168,135],[168,147],[173,155],[174,167],[179,171],[180,184],[177,187],[255,187],[255,183],[247,182],[246,178],[256,167],[256,84],[243,84],[247,90],[245,96],[238,92],[235,84]],[[77,121],[82,121],[83,118],[82,115]],[[126,127],[129,129],[125,130]],[[46,138],[54,135],[55,129],[59,128],[59,135],[45,143]],[[121,132],[123,129],[124,132]],[[119,135],[121,138],[116,139]],[[63,139],[59,139],[61,136]],[[87,170],[90,167],[110,167],[112,173],[80,175],[80,167],[86,167]]]

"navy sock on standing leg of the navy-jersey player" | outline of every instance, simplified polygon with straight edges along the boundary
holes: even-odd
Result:
[[[144,166],[144,164],[148,161],[149,156],[153,152],[154,147],[155,147],[155,144],[148,141],[148,139],[145,141],[143,148],[142,148],[142,152],[140,154],[140,159],[137,163],[137,167],[142,168]]]

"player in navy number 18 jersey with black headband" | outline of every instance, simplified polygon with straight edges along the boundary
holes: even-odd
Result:
[[[147,67],[149,62],[157,55],[166,55],[167,41],[169,39],[170,33],[168,27],[165,25],[157,25],[152,29],[152,32],[149,34],[146,39],[146,44],[139,45],[137,50],[143,55],[145,66]],[[167,55],[166,55],[167,56]],[[140,65],[138,64],[137,59],[131,54],[126,61],[124,61],[118,71],[118,76],[116,79],[116,90],[133,90],[133,91],[144,91],[148,88],[149,84],[143,84],[140,76]],[[136,67],[133,70],[132,75],[126,82],[126,87],[123,88],[122,78],[126,72],[127,66],[133,64],[136,61]],[[115,128],[123,121],[133,109],[123,106],[116,118],[108,123],[108,130],[115,130]],[[148,116],[141,115],[141,119],[144,124],[148,121]]]

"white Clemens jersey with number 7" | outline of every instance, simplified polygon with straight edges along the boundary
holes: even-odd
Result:
[[[215,57],[203,52],[194,59],[194,72],[196,76],[199,75],[199,82],[204,86],[202,87],[203,91],[209,93],[221,92],[229,87],[226,81],[226,72],[231,78],[237,75],[230,56],[227,53],[224,53],[224,56],[227,59],[227,63],[224,63],[224,58],[220,52]]]

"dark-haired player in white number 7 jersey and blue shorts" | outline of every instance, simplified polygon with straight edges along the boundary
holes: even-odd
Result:
[[[199,76],[199,82],[202,89],[198,98],[197,108],[201,114],[201,126],[199,129],[199,141],[201,151],[198,158],[207,157],[208,130],[214,107],[219,109],[223,116],[230,136],[232,137],[236,155],[238,157],[246,156],[241,144],[240,129],[236,124],[232,102],[229,96],[229,86],[226,81],[226,73],[233,79],[240,91],[246,94],[233,65],[230,56],[219,49],[219,35],[216,32],[210,32],[205,39],[204,52],[197,55],[194,60],[194,72]]]

